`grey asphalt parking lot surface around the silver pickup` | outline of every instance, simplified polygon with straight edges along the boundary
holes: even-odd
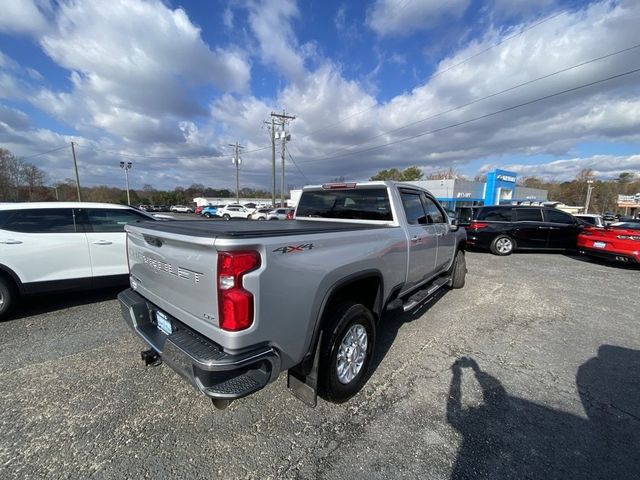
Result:
[[[0,478],[639,478],[640,270],[470,252],[467,285],[384,318],[350,402],[286,376],[214,410],[145,368],[117,291],[0,322]]]

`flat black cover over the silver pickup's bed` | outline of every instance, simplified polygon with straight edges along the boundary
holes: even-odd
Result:
[[[263,222],[257,220],[175,220],[168,222],[140,222],[136,223],[136,226],[145,230],[205,238],[261,238],[392,228],[389,225],[305,220],[267,220]]]

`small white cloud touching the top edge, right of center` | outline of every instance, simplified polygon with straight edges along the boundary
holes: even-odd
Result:
[[[406,36],[444,18],[459,18],[468,6],[469,0],[376,0],[366,23],[381,37]]]

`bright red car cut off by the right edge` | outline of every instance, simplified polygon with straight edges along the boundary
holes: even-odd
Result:
[[[578,251],[623,263],[640,263],[640,223],[618,222],[605,228],[586,227],[578,235]]]

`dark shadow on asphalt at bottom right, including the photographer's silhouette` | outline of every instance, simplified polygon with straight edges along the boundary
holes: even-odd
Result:
[[[451,478],[640,478],[640,351],[602,345],[578,369],[587,418],[511,396],[472,358],[451,366],[447,421],[462,436]],[[482,404],[463,407],[463,372]]]

